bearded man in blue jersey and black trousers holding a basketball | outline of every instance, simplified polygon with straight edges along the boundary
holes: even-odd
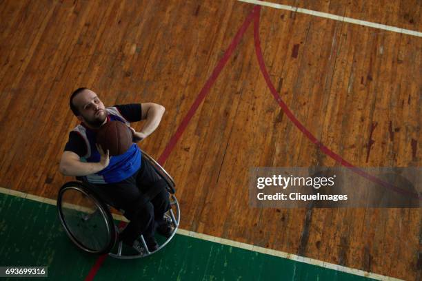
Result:
[[[61,157],[59,170],[65,176],[83,177],[96,185],[101,193],[112,200],[114,207],[124,210],[130,220],[119,240],[139,250],[137,238],[141,234],[150,251],[158,249],[154,239],[157,231],[170,236],[170,222],[163,217],[170,209],[169,194],[162,180],[148,161],[142,161],[141,150],[135,144],[157,129],[164,107],[155,103],[114,105],[104,107],[95,92],[79,88],[70,96],[70,109],[81,124],[69,134],[69,141]],[[145,120],[141,132],[130,127],[130,122]],[[132,131],[132,146],[119,156],[109,156],[95,143],[101,125],[108,121],[121,121]]]

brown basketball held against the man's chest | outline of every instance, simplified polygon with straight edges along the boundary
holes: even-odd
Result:
[[[97,144],[110,156],[125,153],[132,145],[132,132],[127,125],[119,121],[108,121],[97,132]]]

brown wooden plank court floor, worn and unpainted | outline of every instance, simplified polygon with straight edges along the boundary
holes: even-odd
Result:
[[[422,31],[419,0],[277,2]],[[58,164],[77,124],[68,98],[82,86],[106,105],[164,105],[140,145],[158,158],[252,8],[0,1],[0,186],[56,198],[70,180]],[[266,7],[259,34],[281,98],[324,145],[358,167],[421,166],[421,37]],[[165,162],[181,228],[420,280],[421,209],[248,207],[250,167],[311,165],[339,163],[272,97],[251,24]]]

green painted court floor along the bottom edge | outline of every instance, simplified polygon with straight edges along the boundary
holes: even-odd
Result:
[[[98,258],[70,242],[53,205],[0,194],[0,214],[0,266],[48,266],[50,280],[83,280]],[[177,234],[150,257],[108,257],[94,280],[369,279]]]

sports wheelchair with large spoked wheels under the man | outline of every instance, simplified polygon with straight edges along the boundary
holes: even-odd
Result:
[[[159,248],[153,252],[148,250],[143,236],[140,236],[141,251],[124,250],[122,242],[117,242],[119,229],[114,222],[111,207],[113,203],[106,198],[98,187],[90,185],[77,177],[78,181],[65,183],[57,197],[57,212],[63,229],[72,242],[82,251],[88,253],[108,253],[112,258],[131,259],[150,256],[165,247],[174,237],[180,222],[180,207],[175,193],[173,178],[151,156],[142,151],[142,160],[148,161],[157,174],[167,183],[170,193],[170,210],[164,215],[172,222],[172,233],[169,238],[157,237]],[[114,208],[114,207],[113,207]]]

